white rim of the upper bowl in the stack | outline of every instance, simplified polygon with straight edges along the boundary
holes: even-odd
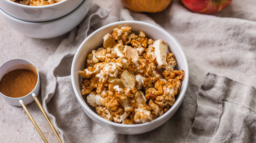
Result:
[[[8,0],[8,1],[11,1],[11,0]],[[49,24],[49,23],[53,23],[53,22],[56,22],[56,21],[60,21],[60,20],[62,20],[64,18],[67,18],[67,17],[71,16],[72,14],[74,14],[87,1],[88,0],[83,0],[83,2],[77,8],[75,8],[73,11],[71,11],[69,14],[67,14],[67,15],[65,15],[63,17],[60,17],[58,19],[54,19],[54,20],[50,20],[50,21],[46,21],[46,22],[28,22],[28,21],[23,21],[23,20],[17,19],[15,17],[12,17],[11,15],[7,14],[2,8],[0,8],[0,13],[2,13],[4,16],[6,16],[6,17],[10,18],[11,20],[13,20],[15,22],[18,22],[18,23],[24,23],[24,24],[30,24],[30,25]],[[19,5],[21,5],[21,4],[19,4]]]

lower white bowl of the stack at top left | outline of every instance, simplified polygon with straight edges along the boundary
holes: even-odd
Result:
[[[1,0],[0,0],[1,1]],[[72,0],[70,0],[72,1]],[[14,17],[11,17],[0,9],[0,15],[3,20],[13,29],[25,34],[28,37],[47,39],[63,35],[71,31],[77,26],[86,16],[91,6],[90,0],[84,0],[83,3],[76,8],[72,13],[49,22],[26,22]]]

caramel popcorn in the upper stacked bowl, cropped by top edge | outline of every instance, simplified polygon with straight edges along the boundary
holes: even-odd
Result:
[[[23,4],[23,5],[30,5],[30,6],[46,6],[51,5],[62,0],[11,0],[13,2]]]

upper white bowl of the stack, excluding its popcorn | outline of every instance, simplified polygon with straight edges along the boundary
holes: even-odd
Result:
[[[19,20],[28,22],[46,22],[61,18],[75,10],[84,0],[63,0],[47,6],[27,6],[0,0],[0,8]]]

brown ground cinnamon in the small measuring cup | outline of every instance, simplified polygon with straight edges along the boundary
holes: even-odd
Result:
[[[5,74],[0,81],[0,92],[12,98],[29,94],[37,83],[37,75],[30,70],[19,69]]]

